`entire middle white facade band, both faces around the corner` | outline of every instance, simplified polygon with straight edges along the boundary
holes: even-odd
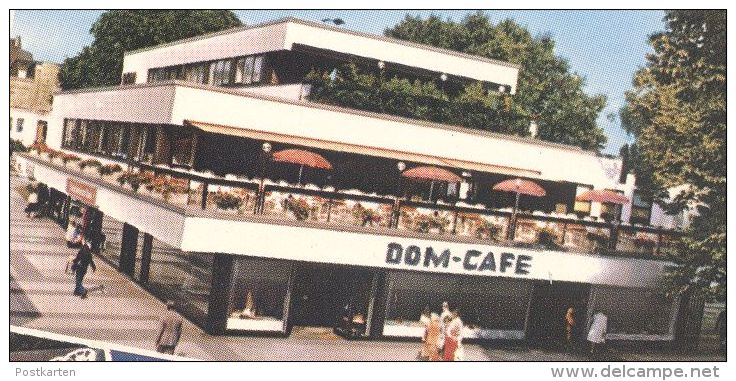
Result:
[[[182,125],[185,120],[538,171],[540,179],[621,189],[621,160],[574,147],[194,85],[157,84],[57,95],[49,145],[64,118]]]

